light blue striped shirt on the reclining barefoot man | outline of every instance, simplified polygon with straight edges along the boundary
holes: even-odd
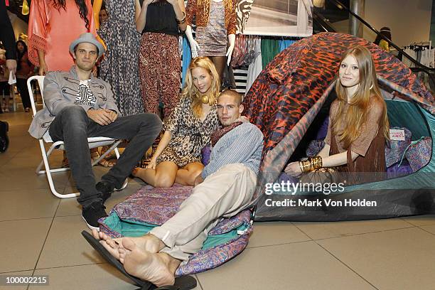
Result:
[[[242,163],[258,174],[262,160],[263,134],[254,124],[243,123],[222,136],[213,147],[210,163],[201,176],[205,179],[222,166]]]

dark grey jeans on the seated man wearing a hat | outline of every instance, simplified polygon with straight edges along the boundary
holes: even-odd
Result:
[[[72,104],[56,115],[50,124],[53,141],[63,140],[71,172],[80,197],[77,201],[86,207],[101,200],[95,189],[87,137],[104,136],[114,139],[129,139],[129,144],[117,164],[102,176],[102,180],[121,188],[125,178],[139,162],[161,131],[161,120],[156,114],[136,114],[119,117],[112,124],[101,126],[87,117],[85,109]]]

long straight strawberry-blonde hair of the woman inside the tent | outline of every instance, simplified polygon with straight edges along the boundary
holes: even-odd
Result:
[[[377,104],[382,105],[383,128],[380,128],[380,130],[383,131],[386,139],[390,136],[387,104],[385,104],[385,100],[383,99],[379,85],[377,84],[375,64],[373,63],[370,50],[362,45],[358,45],[355,48],[348,50],[343,55],[343,58],[340,60],[340,65],[348,55],[352,55],[358,63],[358,70],[360,73],[358,90],[355,92],[355,95],[350,96],[352,99],[349,102],[349,109],[347,112],[344,112],[345,104],[348,103],[349,96],[348,91],[340,82],[339,75],[337,76],[337,82],[335,83],[335,91],[337,92],[338,97],[337,116],[342,116],[342,114],[344,114],[344,118],[337,117],[332,124],[332,128],[338,136],[338,140],[343,142],[343,147],[345,149],[347,149],[350,144],[358,138],[363,123],[366,121],[370,122],[370,120],[367,120],[370,102],[376,102]],[[345,124],[342,124],[343,122]],[[338,131],[338,128],[344,127],[346,128],[345,130]]]

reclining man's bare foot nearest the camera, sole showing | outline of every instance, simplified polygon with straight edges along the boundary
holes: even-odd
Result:
[[[127,273],[156,286],[173,285],[174,274],[181,263],[166,253],[150,253],[137,247],[133,240],[122,240],[124,246],[124,268]]]

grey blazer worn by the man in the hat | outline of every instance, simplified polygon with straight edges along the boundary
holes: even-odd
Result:
[[[31,127],[28,129],[31,136],[37,139],[42,138],[56,115],[68,106],[81,106],[86,111],[91,108],[111,109],[117,112],[118,116],[121,116],[108,82],[91,75],[88,85],[97,97],[97,102],[93,107],[74,103],[79,84],[80,80],[77,77],[75,65],[69,72],[50,72],[45,76],[43,88],[45,107],[38,111],[33,118]]]

